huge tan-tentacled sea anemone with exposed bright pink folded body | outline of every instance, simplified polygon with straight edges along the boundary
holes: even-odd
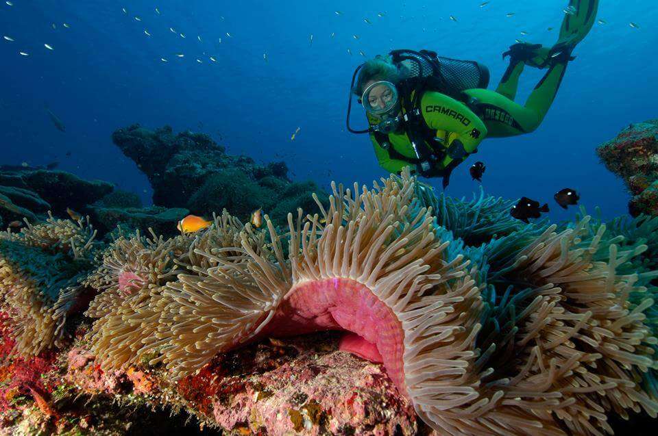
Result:
[[[482,195],[444,199],[441,218],[419,188],[408,170],[372,190],[332,184],[328,208],[316,197],[321,214],[289,214],[285,233],[225,213],[170,242],[166,261],[154,255],[164,240],[115,245],[112,285],[90,309],[99,359],[149,355],[180,379],[263,337],[339,329],[341,348],[381,362],[441,434],[600,435],[609,412],[657,414],[642,238],[589,216],[503,222],[508,203]],[[136,255],[147,270],[126,269]]]

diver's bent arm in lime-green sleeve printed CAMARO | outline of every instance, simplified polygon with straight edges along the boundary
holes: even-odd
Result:
[[[464,103],[440,92],[425,92],[421,109],[430,129],[451,132],[446,147],[448,154],[441,162],[445,168],[453,160],[465,159],[487,136],[485,123]]]

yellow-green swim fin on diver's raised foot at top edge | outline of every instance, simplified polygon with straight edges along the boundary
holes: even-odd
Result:
[[[598,0],[570,0],[564,10],[564,19],[560,27],[557,42],[551,49],[551,54],[567,49],[569,52],[576,47],[589,33],[596,21]]]

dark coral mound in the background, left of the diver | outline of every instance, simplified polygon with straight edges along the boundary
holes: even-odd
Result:
[[[132,125],[115,131],[112,140],[148,177],[157,206],[184,207],[200,216],[228,209],[242,220],[263,207],[285,225],[296,207],[315,208],[313,192],[326,200],[315,183],[291,182],[284,162],[261,166],[251,157],[228,155],[203,133]]]

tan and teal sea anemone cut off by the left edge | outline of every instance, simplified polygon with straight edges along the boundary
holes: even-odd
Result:
[[[26,221],[27,222],[27,221]],[[20,233],[0,233],[0,297],[16,322],[15,352],[61,346],[66,316],[84,291],[97,246],[88,220],[50,216]]]

